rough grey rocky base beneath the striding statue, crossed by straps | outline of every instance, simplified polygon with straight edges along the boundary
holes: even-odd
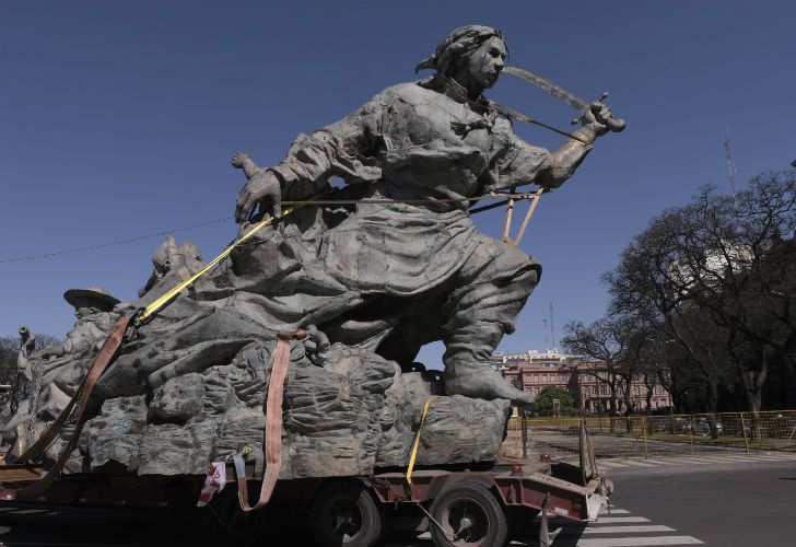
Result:
[[[110,322],[122,307],[97,313]],[[291,341],[281,478],[406,467],[431,396],[418,465],[497,458],[511,411],[507,400],[444,396],[438,372],[402,373],[393,361],[341,344],[325,348],[319,362],[309,341]],[[233,307],[178,296],[122,346],[97,383],[66,472],[201,475],[210,462],[250,446],[260,476],[276,345],[276,333]],[[23,360],[33,380],[20,376],[15,412],[3,431],[7,441],[15,442],[13,452],[55,420],[95,348],[80,357],[51,353]],[[46,459],[58,456],[71,433],[72,428],[65,430]]]

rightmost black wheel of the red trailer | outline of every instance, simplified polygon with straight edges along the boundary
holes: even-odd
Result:
[[[483,485],[459,482],[443,491],[431,504],[431,524],[436,547],[500,547],[508,537],[503,507]]]

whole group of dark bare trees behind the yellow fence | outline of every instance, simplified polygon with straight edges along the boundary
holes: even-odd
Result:
[[[677,411],[795,408],[795,232],[796,171],[705,187],[631,241],[604,276],[608,313],[567,324],[563,345],[602,361],[613,406],[643,377]]]

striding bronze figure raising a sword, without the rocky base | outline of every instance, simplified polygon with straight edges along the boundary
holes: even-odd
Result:
[[[541,268],[478,233],[467,201],[434,200],[530,183],[551,190],[607,131],[611,112],[601,104],[588,108],[575,138],[553,151],[524,142],[483,95],[506,54],[499,31],[463,26],[418,66],[434,75],[388,88],[350,116],[300,136],[279,165],[260,168],[236,154],[233,165],[247,176],[235,210],[244,226],[258,203],[261,212],[270,210],[267,203],[280,216],[276,188],[285,199],[306,199],[327,190],[332,176],[350,185],[348,197],[395,200],[363,202],[342,216],[321,211],[312,222],[285,218],[273,251],[290,274],[238,298],[267,323],[314,323],[332,341],[366,347],[402,365],[422,345],[441,339],[448,394],[529,403],[531,396],[504,382],[488,359],[514,330]],[[235,258],[246,267],[231,276],[232,283],[249,290],[241,278],[257,270],[250,257]]]

